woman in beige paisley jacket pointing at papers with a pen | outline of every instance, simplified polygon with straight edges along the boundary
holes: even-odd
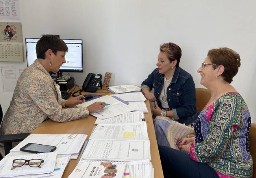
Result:
[[[81,104],[84,96],[63,100],[59,85],[49,72],[59,71],[65,63],[68,47],[57,36],[43,35],[36,45],[37,60],[20,75],[11,104],[3,118],[2,134],[30,133],[47,118],[67,122],[87,117],[89,113],[104,108],[104,102],[95,102],[88,107]],[[63,107],[74,107],[66,108]]]

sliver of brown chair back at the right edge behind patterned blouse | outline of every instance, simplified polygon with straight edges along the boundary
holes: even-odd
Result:
[[[253,161],[253,178],[256,178],[256,123],[252,123],[250,127],[250,155]]]

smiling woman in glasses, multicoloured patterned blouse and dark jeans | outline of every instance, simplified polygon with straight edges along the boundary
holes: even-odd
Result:
[[[239,54],[232,49],[208,52],[198,73],[211,98],[194,123],[195,137],[182,141],[182,152],[159,147],[165,177],[252,176],[250,113],[242,96],[230,85],[240,64]]]

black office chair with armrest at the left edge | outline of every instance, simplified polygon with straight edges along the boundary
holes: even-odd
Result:
[[[0,124],[3,120],[3,111],[0,104]],[[7,135],[1,135],[0,134],[0,143],[4,143],[4,153],[5,155],[10,153],[10,150],[12,149],[12,142],[20,142],[24,140],[30,133],[20,133],[20,134],[7,134]],[[0,156],[1,160],[2,155]]]

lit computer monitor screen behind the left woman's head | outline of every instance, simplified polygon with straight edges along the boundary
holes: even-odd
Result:
[[[37,58],[35,52],[35,45],[39,38],[25,38],[26,53],[27,53],[27,65],[33,64]],[[83,72],[83,43],[82,40],[70,40],[62,39],[69,48],[69,52],[66,53],[66,63],[63,64],[59,72]]]

